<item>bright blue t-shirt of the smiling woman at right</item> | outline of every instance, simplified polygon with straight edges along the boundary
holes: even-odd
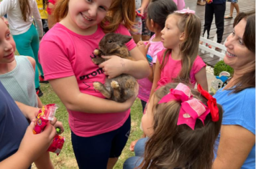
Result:
[[[255,88],[248,88],[230,95],[231,90],[222,90],[218,90],[214,95],[224,110],[222,125],[240,125],[255,135]],[[220,137],[219,133],[216,148],[219,146]],[[255,168],[255,145],[244,161],[242,168]]]

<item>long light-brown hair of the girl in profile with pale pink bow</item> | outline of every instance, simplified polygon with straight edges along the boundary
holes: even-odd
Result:
[[[195,14],[173,13],[169,16],[171,15],[176,15],[180,17],[178,21],[178,29],[180,30],[180,32],[184,32],[185,34],[185,38],[180,44],[180,53],[182,54],[182,68],[177,78],[188,81],[190,79],[190,72],[193,66],[193,62],[198,55],[198,44],[201,34],[201,21]],[[160,69],[163,69],[166,62],[168,62],[170,52],[171,49],[165,50]]]

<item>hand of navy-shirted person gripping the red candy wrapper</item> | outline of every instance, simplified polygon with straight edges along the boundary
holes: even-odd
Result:
[[[42,153],[47,151],[56,134],[55,127],[53,127],[50,122],[47,123],[45,130],[37,135],[33,134],[34,127],[35,123],[31,122],[29,127],[27,127],[17,152],[26,156],[27,159],[31,160],[31,163],[37,160]]]

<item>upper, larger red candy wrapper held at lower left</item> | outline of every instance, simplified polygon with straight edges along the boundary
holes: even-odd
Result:
[[[55,112],[58,109],[56,104],[45,105],[38,112],[37,124],[33,130],[34,135],[39,134],[45,129],[45,125],[48,121],[53,120],[55,117]]]

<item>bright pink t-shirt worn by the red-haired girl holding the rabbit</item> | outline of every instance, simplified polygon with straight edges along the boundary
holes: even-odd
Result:
[[[116,33],[130,35],[120,25]],[[42,38],[39,59],[45,73],[45,79],[58,79],[75,75],[79,90],[88,95],[104,98],[94,90],[93,82],[105,82],[102,68],[93,64],[93,50],[99,47],[104,37],[100,26],[94,34],[83,36],[67,29],[62,24],[55,24]],[[136,47],[133,40],[127,43],[129,50]],[[119,113],[94,114],[68,110],[68,122],[71,130],[78,136],[91,137],[121,127],[129,117],[130,110]]]

